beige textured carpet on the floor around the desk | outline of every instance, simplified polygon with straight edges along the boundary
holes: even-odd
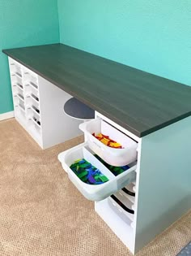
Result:
[[[0,255],[131,255],[58,163],[81,141],[40,150],[15,119],[0,122]],[[174,256],[190,240],[191,212],[137,255]]]

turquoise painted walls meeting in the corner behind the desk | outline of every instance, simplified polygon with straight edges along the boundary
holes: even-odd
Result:
[[[59,24],[66,45],[191,85],[190,0],[0,0],[0,51],[58,42]],[[13,109],[2,53],[0,74],[1,114]]]

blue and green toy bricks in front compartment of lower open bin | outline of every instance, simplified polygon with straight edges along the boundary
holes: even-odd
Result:
[[[75,175],[79,177],[84,183],[87,184],[104,184],[108,181],[108,178],[101,173],[96,167],[92,166],[91,163],[87,162],[86,159],[76,160],[70,169],[74,171]]]

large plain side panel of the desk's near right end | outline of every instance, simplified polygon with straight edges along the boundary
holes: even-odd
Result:
[[[135,253],[191,207],[191,117],[142,137]]]

